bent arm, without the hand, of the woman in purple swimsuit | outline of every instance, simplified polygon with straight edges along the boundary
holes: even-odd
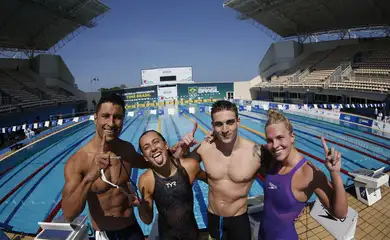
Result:
[[[330,183],[326,175],[313,167],[314,193],[322,205],[336,218],[344,218],[348,213],[348,197],[344,190],[340,173],[331,172]]]

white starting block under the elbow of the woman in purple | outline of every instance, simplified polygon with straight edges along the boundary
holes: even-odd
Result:
[[[348,207],[347,216],[343,219],[338,219],[333,217],[317,198],[310,215],[337,240],[354,239],[358,213],[353,208]]]

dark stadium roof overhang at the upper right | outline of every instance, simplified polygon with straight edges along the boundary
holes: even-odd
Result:
[[[389,0],[227,0],[224,6],[283,38],[390,25]]]

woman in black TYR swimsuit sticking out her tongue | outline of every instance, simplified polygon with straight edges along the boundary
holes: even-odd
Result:
[[[192,184],[195,178],[206,181],[199,162],[173,157],[164,137],[154,130],[141,135],[139,148],[152,166],[138,182],[140,218],[145,224],[152,223],[154,201],[161,240],[198,239]]]

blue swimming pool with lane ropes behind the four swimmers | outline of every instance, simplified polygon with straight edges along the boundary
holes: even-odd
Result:
[[[174,115],[168,115],[165,109],[165,114],[160,116],[142,114],[142,110],[138,109],[136,116],[126,118],[121,138],[131,142],[138,150],[138,139],[142,132],[160,128],[168,143],[172,145],[186,132],[191,131],[190,119],[198,121],[202,128],[209,131],[211,129],[210,115],[199,112],[199,106],[193,106],[197,109],[196,114],[190,114],[187,111],[188,106],[179,106]],[[264,144],[265,140],[262,136],[266,117],[264,112],[244,111],[240,112],[240,117],[243,126],[239,130],[241,136]],[[348,176],[350,171],[361,167],[389,169],[389,139],[302,116],[288,115],[288,117],[292,120],[296,131],[296,147],[327,175],[328,171],[319,160],[323,158],[323,149],[318,136],[324,135],[333,141],[328,145],[337,147],[343,155],[342,178],[346,186],[352,183]],[[62,132],[60,138],[48,138],[44,144],[40,142],[31,145],[26,150],[12,156],[10,160],[0,163],[0,173],[7,167],[13,166],[12,169],[0,175],[0,198],[2,199],[0,227],[17,232],[36,233],[37,223],[46,219],[61,200],[61,190],[64,184],[63,168],[67,159],[93,137],[94,129],[95,125],[92,121],[80,123]],[[204,138],[204,132],[198,130],[195,138],[201,141]],[[20,163],[16,165],[16,162]],[[137,182],[138,177],[144,171],[134,169],[132,180]],[[205,228],[207,226],[207,185],[197,181],[193,186],[193,191],[196,220],[200,228]],[[249,195],[261,194],[263,194],[262,182],[257,179]],[[144,234],[148,235],[152,225],[143,224],[138,217],[137,210],[135,212]],[[61,210],[56,214],[62,214]],[[88,214],[87,207],[83,214]]]

